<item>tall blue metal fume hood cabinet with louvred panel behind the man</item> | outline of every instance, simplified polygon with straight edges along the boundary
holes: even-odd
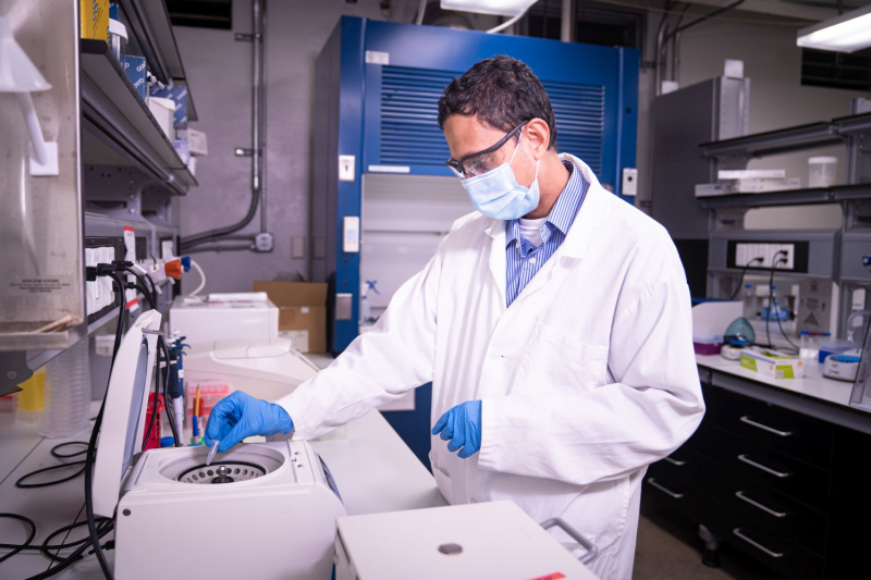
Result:
[[[312,168],[311,277],[331,284],[333,353],[358,333],[359,254],[343,251],[342,238],[344,218],[360,215],[363,174],[451,175],[439,97],[495,54],[532,69],[553,104],[557,148],[621,194],[623,169],[635,166],[637,50],[342,17],[316,66]],[[346,181],[339,156],[353,156]],[[349,312],[336,312],[338,295]]]

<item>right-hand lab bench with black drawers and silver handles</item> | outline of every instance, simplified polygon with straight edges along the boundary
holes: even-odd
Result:
[[[719,355],[696,362],[704,418],[648,469],[642,511],[688,538],[707,528],[706,559],[725,544],[765,577],[861,576],[871,415],[849,406],[852,383],[823,378],[813,362],[801,379],[766,378]]]

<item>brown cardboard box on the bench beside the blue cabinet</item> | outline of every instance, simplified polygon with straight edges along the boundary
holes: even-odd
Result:
[[[265,292],[279,307],[279,332],[303,331],[294,347],[300,353],[327,351],[327,284],[309,282],[254,283],[255,292]],[[305,343],[308,349],[303,350]]]

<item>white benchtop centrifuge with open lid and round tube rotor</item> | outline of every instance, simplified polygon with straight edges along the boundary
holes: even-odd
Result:
[[[114,576],[329,578],[335,518],[345,515],[320,456],[305,442],[136,454],[160,314],[143,313],[119,349],[94,472],[94,511],[116,518]]]

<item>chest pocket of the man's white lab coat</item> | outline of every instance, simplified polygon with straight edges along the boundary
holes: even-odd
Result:
[[[608,347],[536,324],[517,369],[512,394],[580,394],[608,382]]]

